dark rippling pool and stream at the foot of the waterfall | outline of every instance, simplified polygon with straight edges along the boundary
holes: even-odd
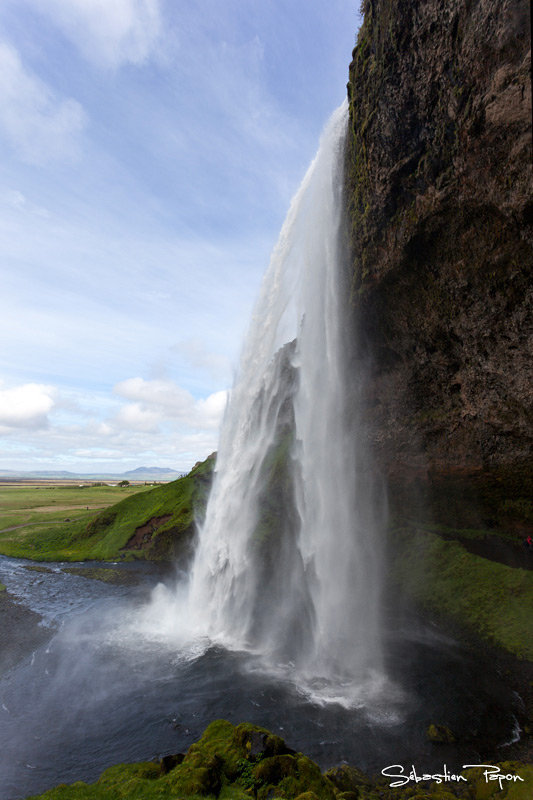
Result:
[[[147,629],[149,572],[132,589],[23,564],[0,557],[0,580],[54,634],[0,680],[4,800],[183,751],[217,718],[264,725],[323,768],[343,760],[376,771],[413,761],[425,768],[443,758],[452,766],[476,756],[468,741],[432,748],[431,722],[463,737],[513,735],[516,699],[497,677],[412,621],[386,637],[389,684],[346,708],[324,702],[323,686],[314,702],[312,690],[292,683],[290,664],[266,671],[253,654]]]

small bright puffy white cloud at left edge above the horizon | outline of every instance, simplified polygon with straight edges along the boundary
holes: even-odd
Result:
[[[55,404],[55,389],[40,383],[25,383],[0,390],[0,430],[46,428]]]

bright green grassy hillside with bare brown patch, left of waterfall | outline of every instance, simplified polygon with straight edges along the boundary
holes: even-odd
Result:
[[[195,516],[205,508],[214,463],[210,456],[185,477],[132,494],[89,522],[75,519],[3,531],[0,553],[36,561],[185,557]]]

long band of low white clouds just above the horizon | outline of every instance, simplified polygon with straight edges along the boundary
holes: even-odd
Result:
[[[121,472],[144,464],[187,471],[216,450],[226,392],[195,400],[170,380],[121,385],[130,402],[37,383],[0,390],[0,467]]]

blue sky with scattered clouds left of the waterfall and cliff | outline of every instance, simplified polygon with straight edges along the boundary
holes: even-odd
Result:
[[[0,0],[0,470],[216,449],[358,0]]]

